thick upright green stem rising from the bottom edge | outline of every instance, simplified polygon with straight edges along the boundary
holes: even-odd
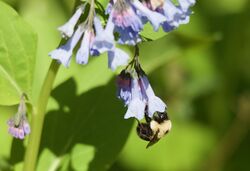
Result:
[[[38,98],[37,109],[33,111],[23,171],[35,171],[46,107],[59,66],[57,61],[52,60]]]

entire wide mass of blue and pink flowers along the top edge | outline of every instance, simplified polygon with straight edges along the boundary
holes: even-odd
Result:
[[[169,32],[189,21],[195,0],[110,0],[106,8],[109,14],[105,28],[95,14],[95,3],[91,1],[89,10],[86,3],[79,6],[69,21],[58,30],[67,42],[49,53],[52,59],[68,67],[73,50],[81,40],[76,52],[76,62],[87,64],[89,56],[108,53],[108,66],[115,70],[126,65],[129,56],[116,47],[118,44],[136,45],[141,42],[140,32],[149,22],[155,31],[160,27]],[[81,16],[88,11],[88,17],[81,22]],[[114,36],[118,34],[118,36]]]

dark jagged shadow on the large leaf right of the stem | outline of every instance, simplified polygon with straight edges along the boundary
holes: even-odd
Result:
[[[133,123],[123,119],[125,108],[115,92],[114,80],[79,96],[73,79],[57,87],[52,96],[60,106],[46,115],[40,153],[48,148],[63,156],[76,144],[91,145],[95,155],[89,170],[105,170],[124,146]]]

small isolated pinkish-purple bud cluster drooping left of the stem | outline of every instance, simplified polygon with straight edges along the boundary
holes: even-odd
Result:
[[[30,133],[30,125],[26,118],[25,95],[21,96],[21,101],[18,106],[18,111],[9,121],[9,133],[18,139],[24,139]]]

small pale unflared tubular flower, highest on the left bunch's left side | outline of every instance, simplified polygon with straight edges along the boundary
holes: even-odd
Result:
[[[73,35],[75,25],[82,15],[84,8],[85,5],[81,5],[67,23],[65,23],[61,27],[58,27],[58,30],[61,32],[63,38],[68,38]]]

